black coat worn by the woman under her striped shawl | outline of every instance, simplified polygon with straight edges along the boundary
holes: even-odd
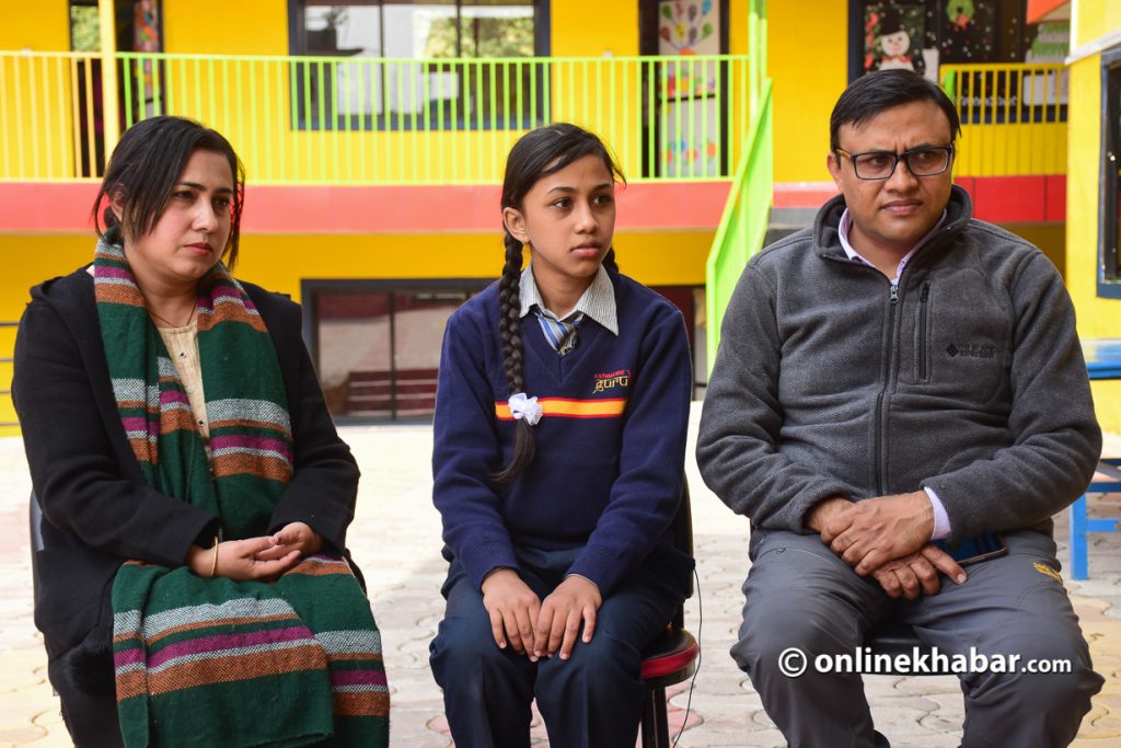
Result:
[[[300,338],[300,307],[242,285],[276,347],[291,417],[295,474],[269,532],[304,521],[344,550],[359,471],[324,404]],[[50,682],[64,701],[73,687],[111,694],[117,569],[130,558],[182,565],[192,544],[213,542],[217,517],[145,483],[117,410],[85,268],[31,289],[16,339],[12,399],[45,518],[35,624]]]

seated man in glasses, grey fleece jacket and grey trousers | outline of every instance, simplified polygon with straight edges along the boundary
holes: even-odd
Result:
[[[705,482],[751,518],[732,656],[791,748],[886,746],[860,676],[814,665],[891,616],[948,657],[1019,656],[961,673],[963,746],[1066,746],[1103,682],[1051,539],[1101,450],[1071,299],[972,218],[936,85],[867,75],[830,128],[842,194],[748,264],[701,422]],[[932,543],[988,533],[1007,554],[964,567]]]

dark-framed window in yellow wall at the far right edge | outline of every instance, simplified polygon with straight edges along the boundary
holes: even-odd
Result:
[[[1097,295],[1121,298],[1121,49],[1102,55],[1102,177]]]

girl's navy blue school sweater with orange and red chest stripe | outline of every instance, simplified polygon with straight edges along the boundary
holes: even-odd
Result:
[[[659,544],[682,495],[692,367],[682,315],[640,284],[610,274],[619,336],[586,318],[580,344],[549,348],[521,321],[527,395],[545,415],[537,455],[508,488],[491,475],[513,451],[498,284],[452,315],[436,394],[433,497],[444,541],[476,585],[518,569],[515,546],[583,547],[568,570],[609,594]]]

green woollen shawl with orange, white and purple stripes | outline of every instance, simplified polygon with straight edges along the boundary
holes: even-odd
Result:
[[[284,380],[268,330],[222,264],[198,284],[211,456],[122,247],[94,286],[121,423],[148,484],[215,512],[224,539],[268,533],[293,475]],[[309,556],[274,583],[138,561],[113,582],[126,746],[386,746],[389,693],[370,604],[346,562]]]

